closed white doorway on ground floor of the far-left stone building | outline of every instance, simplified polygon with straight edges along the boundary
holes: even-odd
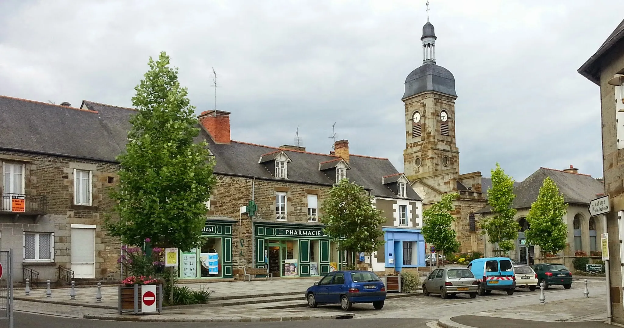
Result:
[[[71,229],[74,277],[95,278],[95,228]]]

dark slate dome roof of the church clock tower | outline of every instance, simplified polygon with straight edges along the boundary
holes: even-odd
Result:
[[[431,23],[427,22],[427,24]],[[425,24],[425,26],[427,25]],[[431,31],[433,31],[433,26],[431,26]],[[405,79],[405,94],[403,94],[403,98],[414,96],[414,94],[424,91],[437,91],[457,97],[455,93],[455,77],[448,69],[432,62],[427,62],[409,73]]]

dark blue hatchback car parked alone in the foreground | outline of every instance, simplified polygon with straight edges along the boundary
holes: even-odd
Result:
[[[386,285],[371,271],[334,271],[314,282],[306,299],[310,307],[339,303],[343,311],[349,311],[353,303],[373,303],[379,310],[386,300]]]

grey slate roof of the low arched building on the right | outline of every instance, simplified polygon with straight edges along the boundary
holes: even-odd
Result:
[[[580,205],[589,204],[598,194],[603,194],[603,192],[605,192],[603,183],[588,174],[576,174],[540,167],[540,169],[514,188],[516,196],[512,207],[515,209],[530,207],[537,199],[540,187],[542,187],[546,177],[553,179],[555,184],[559,187],[559,192],[563,194],[563,199],[565,199],[567,203]],[[477,213],[489,212],[490,207],[488,206]]]

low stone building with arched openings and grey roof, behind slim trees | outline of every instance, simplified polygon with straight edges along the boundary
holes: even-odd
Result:
[[[546,177],[550,177],[557,184],[565,203],[568,204],[567,212],[563,216],[563,221],[568,226],[567,246],[558,254],[553,254],[554,257],[548,257],[548,262],[562,263],[572,269],[575,257],[591,256],[593,259],[602,259],[599,236],[603,225],[597,218],[590,217],[588,204],[592,199],[603,195],[604,185],[601,179],[578,173],[578,169],[572,166],[563,170],[540,167],[514,187],[516,197],[512,207],[517,209],[515,220],[520,225],[520,231],[518,239],[515,240],[515,249],[510,251],[509,257],[529,265],[543,262],[540,247],[527,245],[524,231],[530,227],[526,217],[531,204],[537,200]],[[489,206],[477,213],[484,217],[492,216]],[[485,256],[496,256],[494,249],[492,244],[485,244]]]

